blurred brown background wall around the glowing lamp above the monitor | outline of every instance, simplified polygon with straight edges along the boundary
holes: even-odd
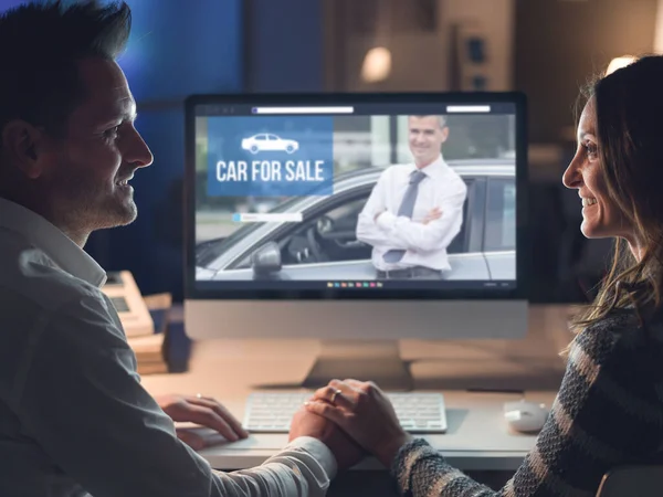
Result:
[[[361,7],[352,0],[328,0],[326,19],[335,28],[329,34],[328,86],[338,91],[449,91],[455,89],[454,29],[471,23],[486,39],[486,72],[488,89],[511,89],[513,85],[513,44],[515,0],[438,0],[434,9],[434,29],[412,25],[412,17],[404,22],[398,17],[377,10],[381,19],[368,25],[366,33],[352,32],[348,24],[360,14]],[[396,8],[394,0],[373,0],[378,6]],[[411,9],[421,9],[412,2]],[[419,7],[418,7],[419,6]],[[392,54],[389,80],[367,84],[360,78],[366,52],[376,45],[386,45]],[[339,73],[343,75],[339,76]]]

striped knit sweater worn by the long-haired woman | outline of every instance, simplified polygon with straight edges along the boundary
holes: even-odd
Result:
[[[450,466],[422,440],[403,445],[391,473],[413,497],[593,497],[603,474],[663,461],[663,318],[640,327],[615,311],[576,339],[551,415],[498,491]]]

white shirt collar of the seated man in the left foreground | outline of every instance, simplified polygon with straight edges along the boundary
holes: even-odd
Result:
[[[106,272],[62,230],[18,203],[0,198],[0,228],[13,231],[44,251],[63,271],[91,285],[106,283]]]

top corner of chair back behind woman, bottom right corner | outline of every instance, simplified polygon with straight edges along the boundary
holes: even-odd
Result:
[[[663,465],[623,466],[609,470],[597,497],[653,497],[663,493]]]

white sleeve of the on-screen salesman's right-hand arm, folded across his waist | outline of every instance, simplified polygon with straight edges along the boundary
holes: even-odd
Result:
[[[440,199],[438,207],[442,215],[428,224],[412,221],[406,216],[396,216],[385,212],[377,224],[389,240],[414,252],[430,252],[446,248],[463,224],[463,204],[467,188],[462,180]]]

